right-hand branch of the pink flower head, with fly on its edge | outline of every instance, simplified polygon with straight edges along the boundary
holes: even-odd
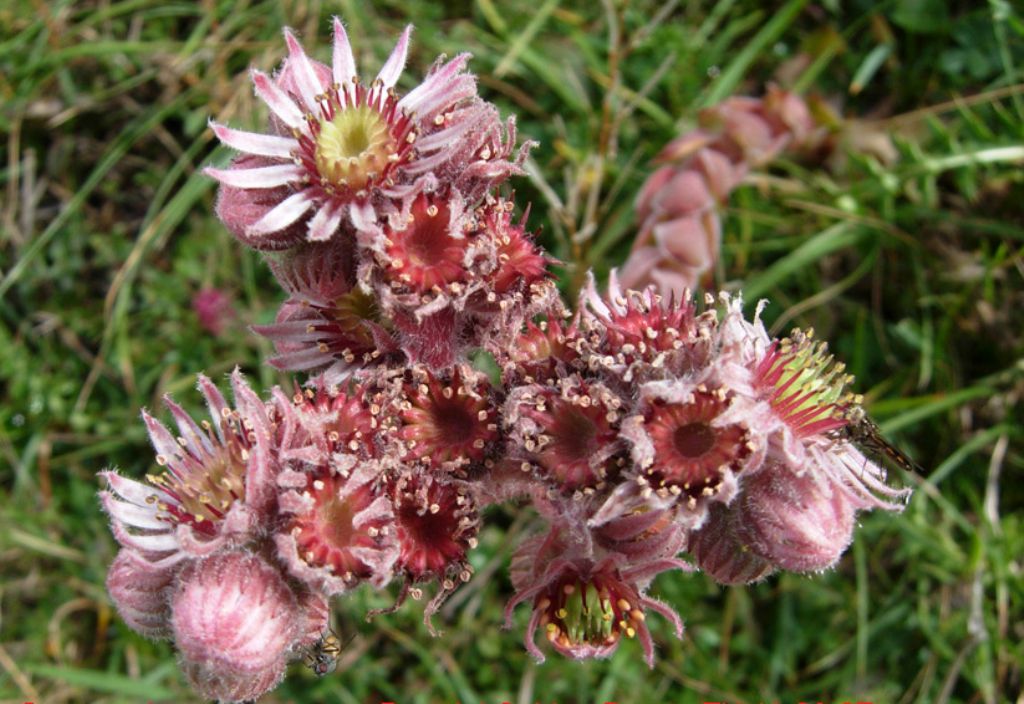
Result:
[[[612,275],[606,296],[591,281],[574,317],[531,323],[505,357],[507,469],[484,483],[548,519],[517,554],[509,607],[532,604],[539,657],[542,629],[574,658],[636,635],[650,661],[645,611],[681,629],[646,593],[654,575],[823,570],[856,512],[901,508],[907,492],[850,442],[863,411],[827,346],[801,331],[771,340],[738,298],[702,308]]]

